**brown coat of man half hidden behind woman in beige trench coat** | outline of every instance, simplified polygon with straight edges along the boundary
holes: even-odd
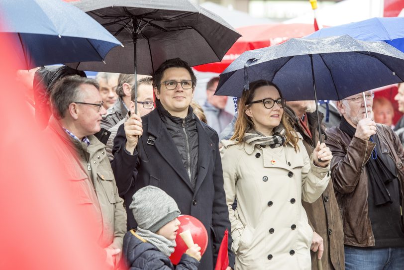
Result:
[[[317,114],[306,113],[308,126],[313,138],[307,134],[301,126],[299,118],[289,107],[284,108],[285,113],[290,117],[293,127],[302,134],[303,144],[308,155],[313,153],[314,146],[317,144],[319,135],[317,127]],[[320,122],[322,122],[323,114],[319,112]],[[324,127],[322,127],[324,128]],[[324,130],[322,130],[323,142],[325,139]],[[321,196],[313,203],[302,201],[303,207],[306,210],[308,222],[317,234],[324,240],[324,253],[321,259],[323,270],[344,270],[344,243],[342,231],[342,218],[334,194],[334,188],[330,181],[327,188]],[[317,270],[316,253],[310,251],[311,254],[311,269]]]

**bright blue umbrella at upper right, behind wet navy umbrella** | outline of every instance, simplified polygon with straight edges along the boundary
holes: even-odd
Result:
[[[404,52],[404,17],[371,18],[322,28],[304,38],[349,35],[359,40],[385,41]]]

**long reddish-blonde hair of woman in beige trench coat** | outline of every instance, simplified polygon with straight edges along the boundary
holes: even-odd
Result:
[[[237,143],[241,143],[244,140],[244,134],[247,132],[249,129],[255,129],[254,123],[252,119],[245,113],[245,110],[250,106],[250,102],[253,101],[255,90],[257,90],[260,87],[263,86],[273,86],[275,87],[279,95],[282,96],[281,90],[279,90],[278,86],[275,85],[272,82],[265,81],[265,80],[258,80],[255,82],[250,83],[250,90],[243,91],[241,98],[239,100],[239,107],[238,107],[238,117],[234,126],[234,134],[231,137],[231,140],[237,140]],[[286,136],[286,142],[290,142],[294,148],[295,151],[299,150],[298,142],[299,142],[299,137],[296,132],[296,130],[291,126],[291,124],[288,121],[288,116],[286,113],[282,114],[281,118],[281,123],[285,127],[285,136]]]

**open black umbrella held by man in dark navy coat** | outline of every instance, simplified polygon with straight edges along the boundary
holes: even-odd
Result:
[[[165,60],[176,57],[190,66],[218,62],[240,37],[222,18],[191,0],[81,0],[73,4],[124,45],[111,50],[105,64],[67,64],[80,70],[136,76],[152,74]],[[135,92],[137,99],[136,87]]]

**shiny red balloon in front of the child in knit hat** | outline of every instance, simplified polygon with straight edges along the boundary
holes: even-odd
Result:
[[[178,229],[177,238],[175,239],[177,246],[175,247],[173,254],[170,256],[170,260],[174,265],[177,265],[180,262],[181,256],[183,256],[188,249],[184,240],[181,238],[180,233],[186,230],[191,231],[194,243],[201,247],[201,255],[203,255],[207,247],[207,232],[205,226],[203,226],[199,219],[189,215],[180,215],[178,219],[180,220],[181,225]]]

